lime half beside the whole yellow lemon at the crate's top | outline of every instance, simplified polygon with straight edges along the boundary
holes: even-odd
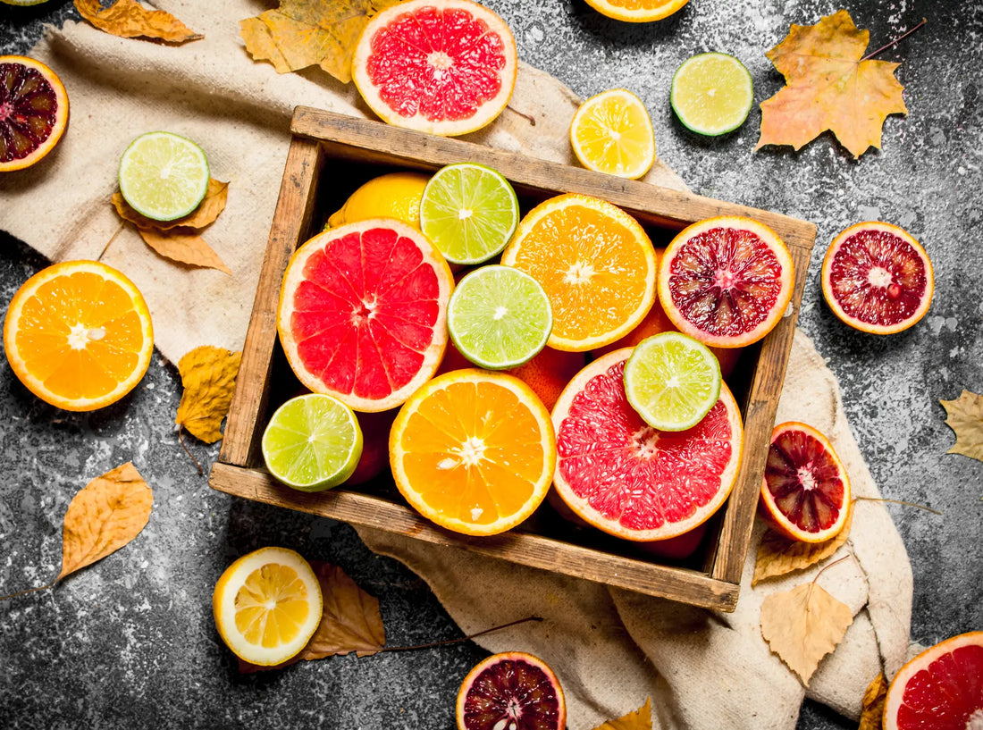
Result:
[[[501,253],[519,225],[519,199],[500,173],[461,162],[437,170],[420,203],[420,228],[452,263]]]

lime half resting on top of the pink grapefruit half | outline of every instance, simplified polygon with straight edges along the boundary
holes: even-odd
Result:
[[[628,403],[653,428],[683,431],[721,397],[721,365],[706,345],[680,332],[642,340],[624,364]]]

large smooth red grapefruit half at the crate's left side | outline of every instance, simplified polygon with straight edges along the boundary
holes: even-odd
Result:
[[[415,228],[389,218],[318,234],[287,266],[277,328],[304,385],[386,411],[429,380],[447,344],[454,283]]]

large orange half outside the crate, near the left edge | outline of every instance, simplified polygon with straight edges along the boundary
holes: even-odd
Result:
[[[14,295],[3,344],[14,373],[38,398],[93,411],[144,377],[153,326],[143,295],[122,273],[98,261],[64,261]]]

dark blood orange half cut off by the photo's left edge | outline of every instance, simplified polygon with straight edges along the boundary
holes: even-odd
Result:
[[[68,94],[55,73],[25,56],[0,56],[0,172],[51,151],[68,125]]]

